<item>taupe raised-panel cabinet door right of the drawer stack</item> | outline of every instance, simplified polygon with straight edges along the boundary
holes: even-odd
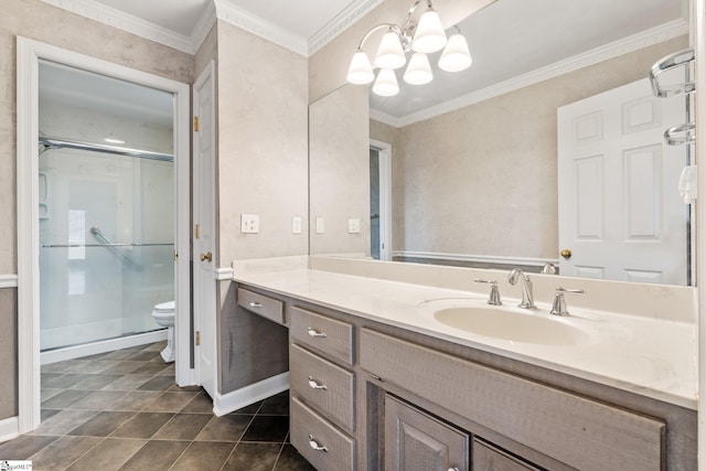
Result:
[[[469,433],[386,395],[384,452],[386,471],[467,471]]]

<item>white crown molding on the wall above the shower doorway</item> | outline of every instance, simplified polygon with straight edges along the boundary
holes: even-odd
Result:
[[[189,54],[194,53],[192,39],[172,30],[145,21],[131,14],[124,13],[93,0],[42,0],[44,3],[71,11],[107,24],[118,30],[174,47]]]

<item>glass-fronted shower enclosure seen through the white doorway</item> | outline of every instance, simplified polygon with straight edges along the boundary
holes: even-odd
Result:
[[[174,299],[173,96],[40,63],[42,352],[161,329]]]

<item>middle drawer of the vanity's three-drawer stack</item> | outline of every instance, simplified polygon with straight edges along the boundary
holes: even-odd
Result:
[[[302,397],[328,418],[355,429],[355,375],[298,345],[289,347],[289,382]]]

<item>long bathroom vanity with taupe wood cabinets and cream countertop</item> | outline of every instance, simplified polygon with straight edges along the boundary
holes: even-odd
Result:
[[[680,389],[695,378],[645,386],[639,362],[623,377],[576,368],[571,351],[596,356],[590,345],[513,350],[431,327],[435,302],[482,296],[303,269],[242,277],[237,298],[289,329],[290,440],[319,470],[696,469],[696,398]],[[671,327],[657,334],[688,338]]]

